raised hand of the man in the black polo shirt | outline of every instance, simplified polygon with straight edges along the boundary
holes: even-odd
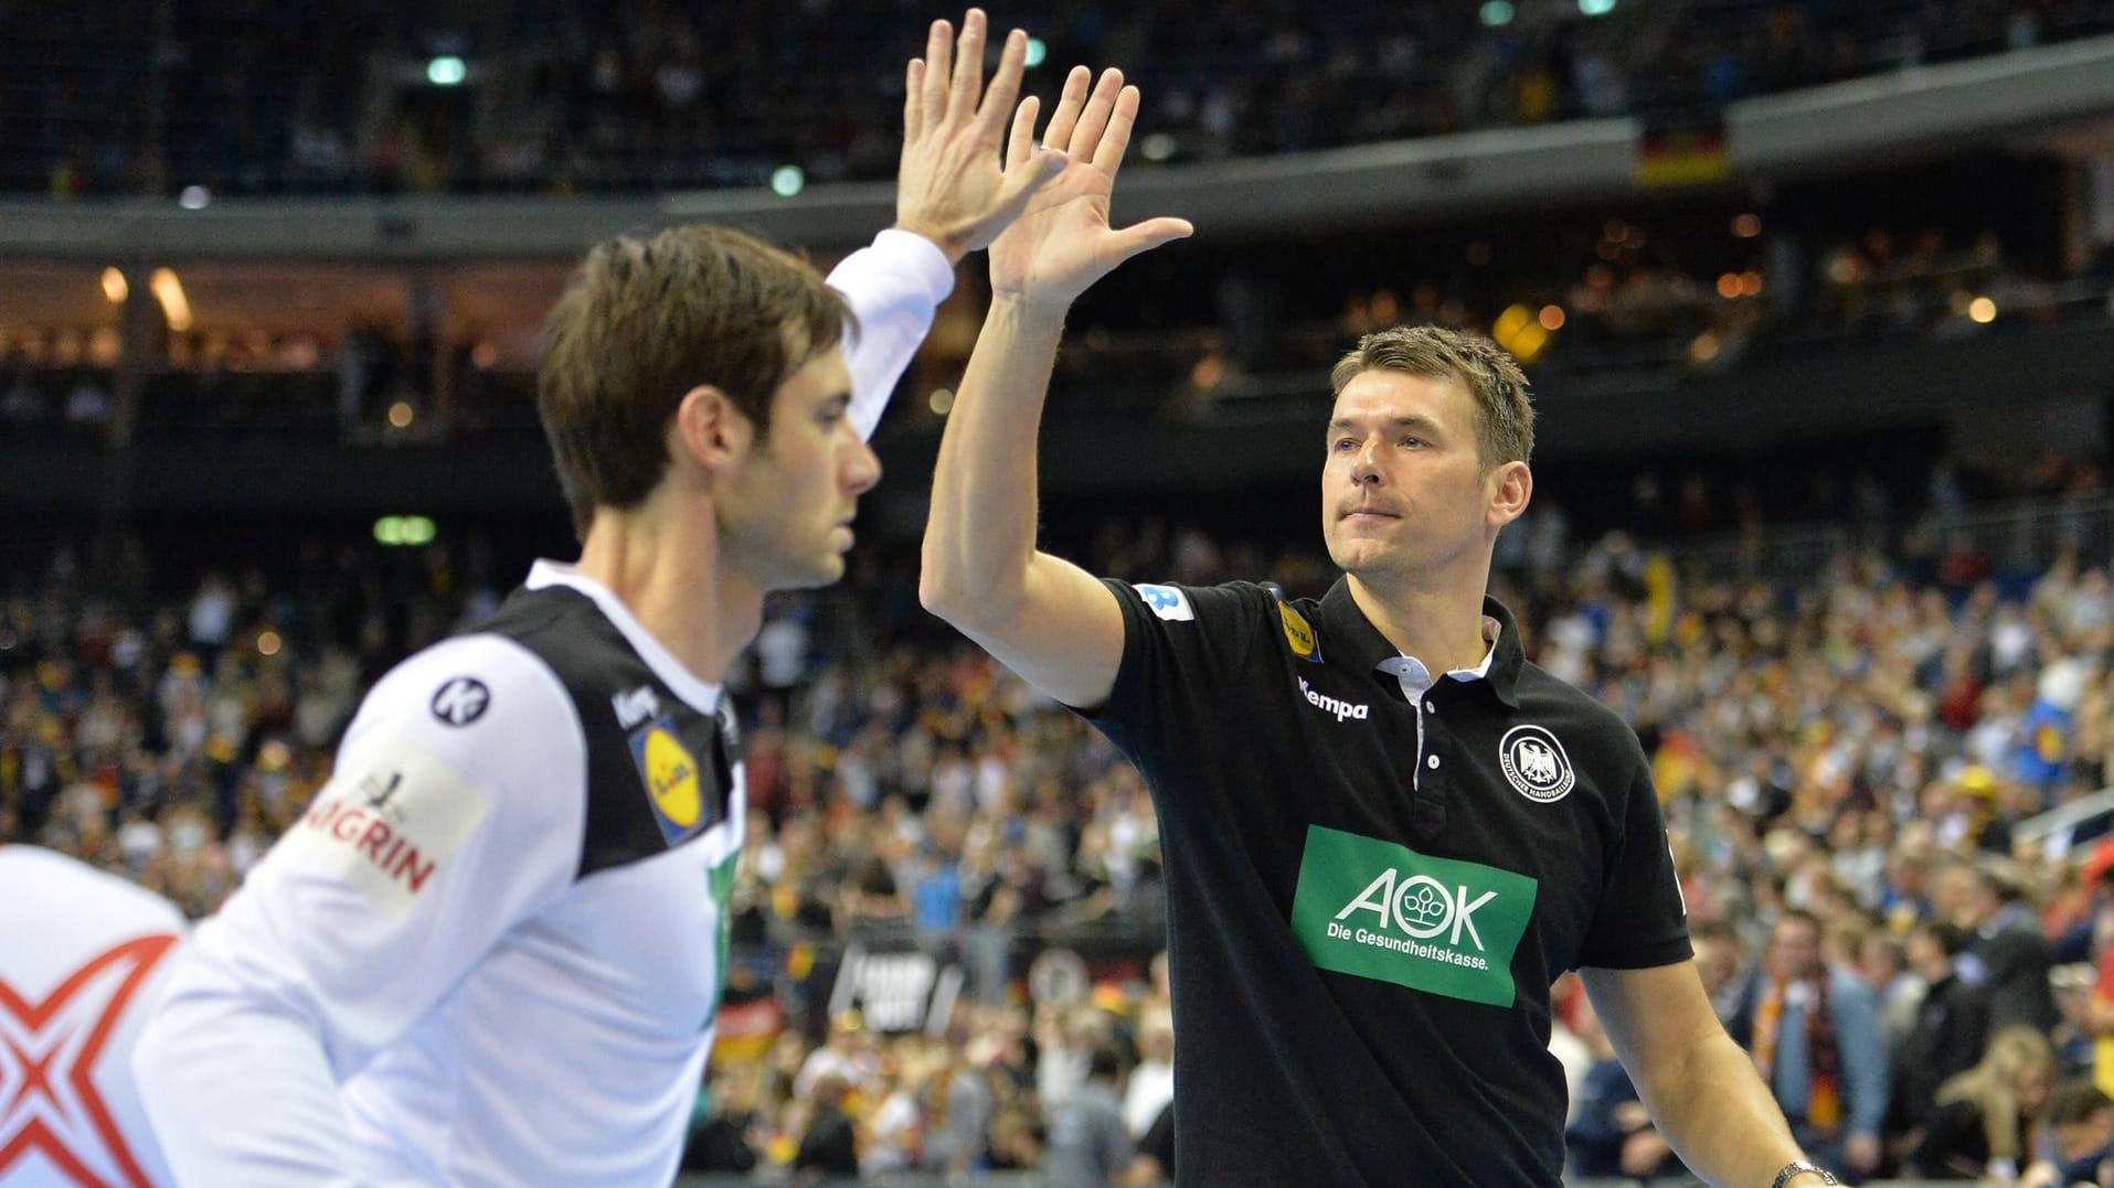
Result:
[[[1013,114],[1008,173],[1055,154],[1068,156],[1070,167],[1036,190],[1027,211],[991,243],[994,298],[1070,304],[1116,264],[1194,230],[1180,218],[1148,218],[1123,230],[1108,226],[1116,171],[1137,123],[1137,87],[1125,87],[1120,70],[1106,70],[1093,93],[1087,91],[1091,80],[1084,66],[1072,68],[1040,150],[1034,144],[1036,99],[1021,99]]]

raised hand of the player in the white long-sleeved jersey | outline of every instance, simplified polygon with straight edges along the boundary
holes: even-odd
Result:
[[[1061,159],[1000,165],[1006,114],[1021,93],[1027,34],[1013,30],[983,89],[985,17],[970,8],[956,44],[947,21],[932,21],[926,55],[909,63],[903,87],[903,165],[896,171],[896,226],[915,230],[960,262],[987,247]],[[981,101],[979,101],[981,99]]]

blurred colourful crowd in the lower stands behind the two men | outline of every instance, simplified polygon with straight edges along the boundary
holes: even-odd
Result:
[[[2097,474],[2036,484],[2076,497]],[[1945,482],[1936,512],[1958,512]],[[1653,757],[1706,987],[1801,1141],[1926,1177],[2103,1158],[2114,841],[2025,822],[2110,782],[2114,558],[2006,571],[1890,528],[1820,571],[1733,575],[1683,560],[1679,522],[1645,526],[1566,541],[1541,512],[1497,594],[1533,657]],[[1306,550],[1154,522],[1112,524],[1091,554],[1133,581],[1330,581]],[[0,586],[0,841],[203,915],[328,780],[361,689],[486,615],[512,573],[442,541],[311,545],[275,577],[156,594],[171,579],[118,541]],[[1154,1182],[1177,1040],[1137,774],[926,617],[911,569],[882,558],[774,602],[738,687],[750,839],[691,1165]],[[1114,943],[1093,985],[1027,977],[1097,926]],[[814,970],[848,945],[960,968],[958,1004],[928,1029],[831,1013]],[[1577,1171],[1679,1171],[1590,1004],[1560,1004]]]

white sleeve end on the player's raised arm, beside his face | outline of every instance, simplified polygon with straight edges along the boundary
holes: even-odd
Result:
[[[932,330],[932,313],[953,292],[953,264],[930,239],[890,228],[846,256],[829,273],[829,285],[858,319],[843,361],[852,368],[852,425],[860,438],[873,438],[903,368]]]

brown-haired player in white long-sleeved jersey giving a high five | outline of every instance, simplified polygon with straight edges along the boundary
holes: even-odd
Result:
[[[180,1182],[672,1180],[744,829],[719,681],[765,594],[843,575],[953,264],[1061,169],[1000,163],[1025,42],[985,93],[983,15],[932,25],[896,226],[827,283],[708,226],[581,264],[537,376],[581,556],[383,676],[199,928],[135,1055]]]

